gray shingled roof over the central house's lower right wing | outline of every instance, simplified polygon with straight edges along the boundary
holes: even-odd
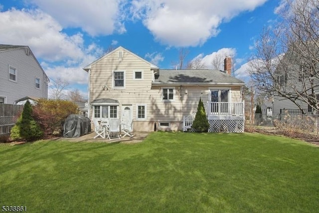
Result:
[[[220,70],[160,69],[159,74],[153,84],[244,84]]]

